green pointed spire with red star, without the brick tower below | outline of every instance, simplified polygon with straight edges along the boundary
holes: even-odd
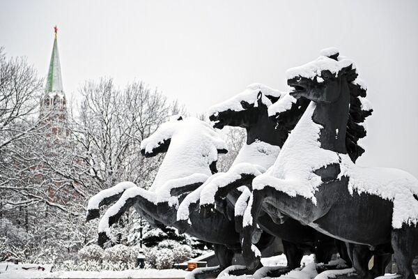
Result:
[[[56,33],[58,29],[54,27],[54,47],[52,47],[51,61],[49,62],[49,71],[47,75],[47,86],[45,91],[63,92],[63,81],[61,77],[61,64],[59,63],[58,44],[56,43]]]

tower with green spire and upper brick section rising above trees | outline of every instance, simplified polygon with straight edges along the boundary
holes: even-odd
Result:
[[[59,61],[58,29],[54,27],[54,46],[52,47],[51,61],[45,86],[45,94],[40,106],[40,117],[49,123],[50,132],[54,135],[65,135],[67,122],[67,106],[63,91],[61,64]]]

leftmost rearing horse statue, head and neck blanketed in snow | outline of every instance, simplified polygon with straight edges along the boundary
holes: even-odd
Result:
[[[162,124],[141,143],[141,151],[146,157],[167,152],[150,189],[123,182],[102,190],[88,203],[88,219],[92,219],[98,217],[100,206],[117,200],[100,220],[99,243],[109,239],[110,226],[131,206],[152,224],[182,229],[176,223],[178,203],[184,199],[185,193],[212,177],[211,174],[216,172],[217,153],[226,153],[225,147],[220,135],[208,123],[198,119],[178,119]],[[219,212],[214,212],[212,218],[201,218],[197,211],[191,214],[190,220],[193,225],[187,227],[187,234],[214,243],[219,260],[219,266],[196,275],[196,278],[216,276],[231,265],[233,253],[241,249],[233,220]],[[258,247],[268,246],[272,237],[265,238],[265,241]]]

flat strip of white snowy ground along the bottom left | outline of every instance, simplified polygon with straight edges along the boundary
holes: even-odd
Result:
[[[180,269],[138,269],[127,271],[10,271],[0,273],[0,279],[123,279],[123,278],[185,278],[189,273]]]

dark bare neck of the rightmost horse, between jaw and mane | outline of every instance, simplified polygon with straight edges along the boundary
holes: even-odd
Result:
[[[334,103],[316,103],[312,120],[323,126],[320,130],[321,149],[347,153],[346,130],[350,91],[346,82],[341,82],[340,98]]]

